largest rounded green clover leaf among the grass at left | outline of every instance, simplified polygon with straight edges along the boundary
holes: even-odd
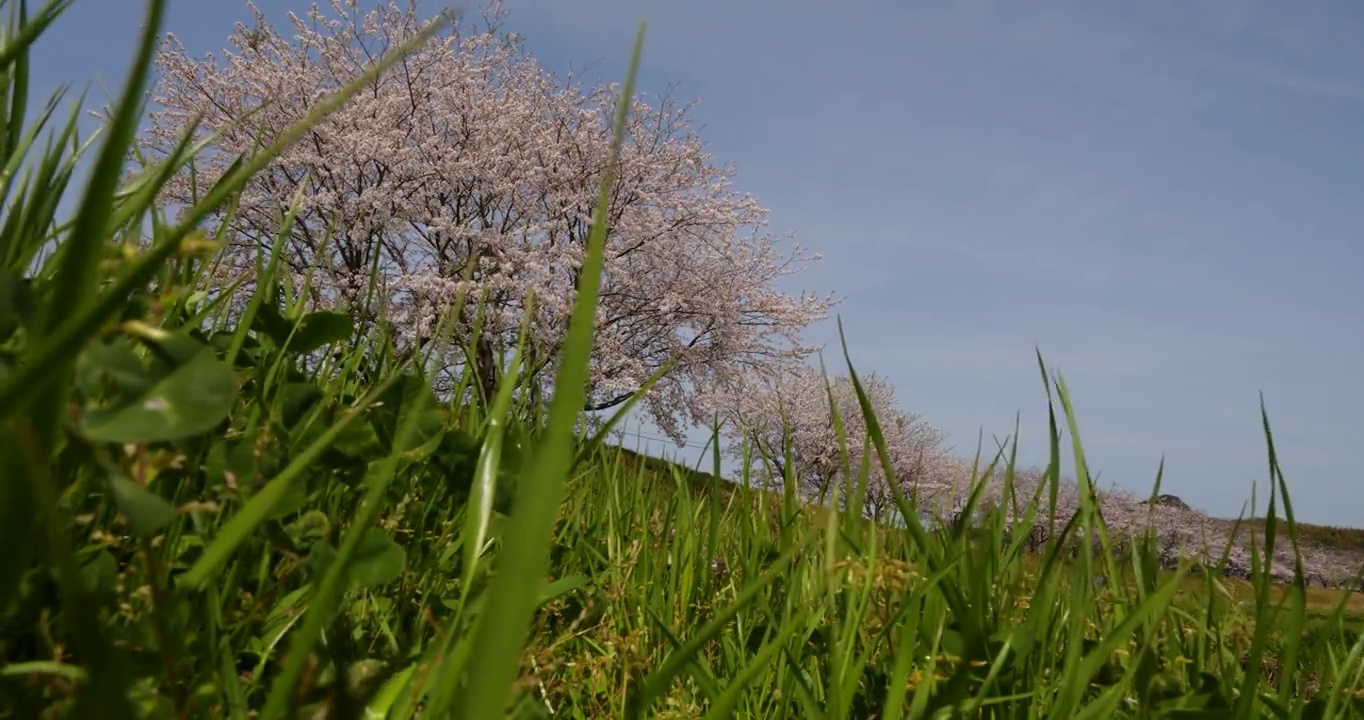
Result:
[[[199,435],[226,419],[237,400],[232,370],[202,344],[188,360],[155,382],[128,385],[134,383],[124,383],[128,391],[113,406],[85,413],[80,431],[86,439],[136,443]]]

